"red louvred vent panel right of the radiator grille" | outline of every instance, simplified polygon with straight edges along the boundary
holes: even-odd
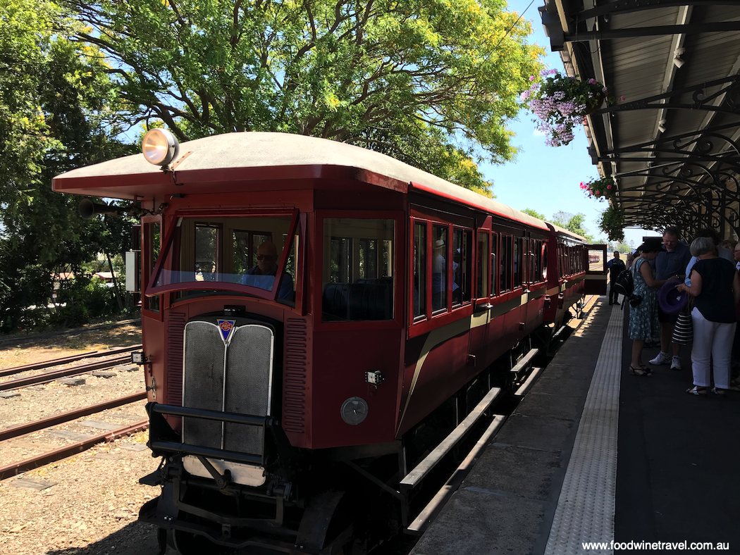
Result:
[[[306,360],[308,334],[305,320],[288,318],[285,328],[285,383],[283,429],[295,434],[306,431]]]

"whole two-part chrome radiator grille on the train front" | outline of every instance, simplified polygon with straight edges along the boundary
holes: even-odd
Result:
[[[268,416],[275,334],[271,327],[237,319],[229,344],[216,318],[185,326],[183,406]],[[183,441],[191,445],[261,454],[263,428],[186,417]]]

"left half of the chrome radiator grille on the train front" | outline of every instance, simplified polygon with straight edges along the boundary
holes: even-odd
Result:
[[[223,411],[223,360],[226,346],[213,323],[185,325],[183,406]],[[183,419],[183,440],[191,445],[221,448],[222,424],[202,418]]]

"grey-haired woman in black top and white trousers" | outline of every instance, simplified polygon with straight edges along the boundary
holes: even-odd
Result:
[[[676,286],[679,291],[694,297],[691,311],[694,385],[686,392],[707,394],[713,368],[712,392],[724,394],[730,388],[730,359],[737,327],[735,306],[740,302],[740,277],[732,263],[717,256],[717,248],[711,238],[694,239],[691,254],[699,257],[691,269],[691,286],[685,283]]]

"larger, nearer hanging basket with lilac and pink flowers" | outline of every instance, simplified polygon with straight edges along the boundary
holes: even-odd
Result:
[[[548,136],[551,147],[573,141],[576,125],[599,110],[605,100],[612,100],[608,88],[596,79],[580,81],[557,70],[542,70],[539,79],[532,75],[529,80],[532,86],[522,92],[521,101],[539,119],[537,129]]]

